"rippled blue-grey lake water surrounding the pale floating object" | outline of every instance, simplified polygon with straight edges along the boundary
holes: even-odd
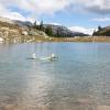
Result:
[[[28,59],[33,52],[58,58]],[[110,110],[109,106],[109,43],[0,44],[0,110]]]

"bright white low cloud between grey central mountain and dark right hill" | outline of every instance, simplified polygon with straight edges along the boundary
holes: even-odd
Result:
[[[82,32],[82,33],[89,34],[89,35],[92,35],[92,32],[95,30],[95,29],[88,29],[88,28],[84,28],[84,26],[72,26],[68,29],[74,31],[74,32]]]

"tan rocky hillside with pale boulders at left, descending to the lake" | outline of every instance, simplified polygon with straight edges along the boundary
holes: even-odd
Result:
[[[33,28],[29,29],[24,22],[16,23],[16,21],[0,18],[0,42],[21,43],[35,41],[37,37],[48,36],[42,31],[37,31]]]

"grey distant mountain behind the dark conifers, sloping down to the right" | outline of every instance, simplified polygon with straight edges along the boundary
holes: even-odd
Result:
[[[74,36],[88,36],[80,32],[74,32],[63,25],[44,24],[44,29],[50,26],[53,31],[54,36],[74,37]]]

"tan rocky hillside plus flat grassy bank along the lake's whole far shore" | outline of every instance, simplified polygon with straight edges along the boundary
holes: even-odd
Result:
[[[0,21],[0,43],[30,42],[110,42],[109,36],[52,37],[43,31]]]

